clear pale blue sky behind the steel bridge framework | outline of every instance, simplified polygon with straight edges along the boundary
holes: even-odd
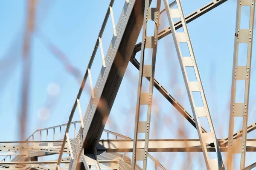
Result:
[[[185,15],[190,14],[209,2],[210,0],[193,2],[182,0],[183,11]],[[113,13],[116,25],[124,3],[125,0],[116,0],[114,3]],[[169,3],[171,3],[170,0]],[[2,25],[0,27],[0,141],[20,140],[20,118],[18,115],[20,114],[21,57],[27,15],[26,4],[25,0],[15,1],[15,3],[7,0],[0,1]],[[38,1],[36,30],[37,33],[40,31],[44,35],[39,36],[35,33],[32,37],[32,74],[26,136],[36,129],[67,123],[81,85],[81,81],[70,74],[60,59],[49,51],[44,43],[45,40],[55,44],[67,56],[70,64],[83,76],[108,4],[108,0]],[[163,8],[162,2],[161,9]],[[242,11],[242,18],[248,20],[248,10]],[[228,136],[235,24],[236,0],[228,0],[188,24],[218,139]],[[168,25],[166,13],[163,13],[160,30]],[[108,51],[112,36],[113,28],[111,18],[109,18],[102,37],[104,54]],[[141,42],[141,40],[140,34],[137,42]],[[255,49],[255,45],[253,45],[253,54]],[[246,55],[243,48],[240,52],[242,55]],[[140,60],[140,52],[136,58]],[[102,59],[100,50],[98,50],[91,69],[93,85],[96,84],[101,67]],[[256,85],[255,67],[256,60],[253,55],[248,125],[256,121],[253,116],[256,111],[256,107],[253,105],[256,99],[256,91],[253,88]],[[132,138],[138,77],[139,71],[129,63],[105,127]],[[192,115],[172,34],[158,42],[155,78]],[[80,100],[83,113],[87,109],[91,95],[88,82]],[[238,93],[242,96],[241,90]],[[151,139],[198,139],[195,128],[156,89],[154,89],[153,101]],[[73,121],[76,120],[79,120],[78,111],[73,118]],[[234,131],[241,129],[241,125],[237,125],[240,122],[242,122],[241,119],[235,122]],[[202,125],[206,127],[204,122]],[[184,131],[185,136],[181,136],[179,130]],[[248,133],[247,137],[255,138],[255,131]],[[186,165],[189,159],[192,161],[192,169],[205,169],[202,153],[152,153],[152,155],[160,160],[167,169],[183,168],[183,164]],[[250,159],[253,156],[255,158],[255,153],[247,152],[246,155],[246,165],[256,161]],[[222,153],[222,156],[225,161],[226,153]],[[148,167],[151,166],[153,167],[152,162],[148,161]]]

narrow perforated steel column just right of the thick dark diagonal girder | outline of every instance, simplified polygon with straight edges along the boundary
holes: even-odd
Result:
[[[137,94],[137,107],[135,116],[135,128],[134,128],[134,145],[133,145],[133,159],[131,168],[134,170],[136,161],[143,160],[143,170],[147,167],[148,157],[148,139],[149,139],[149,127],[151,118],[151,104],[154,88],[154,70],[157,55],[157,40],[158,40],[158,26],[160,18],[160,4],[161,0],[157,0],[156,8],[149,8],[150,0],[145,0],[144,22],[143,22],[143,44],[141,45],[141,57],[140,57],[140,76]],[[147,22],[148,20],[154,21],[154,36],[147,36]],[[145,48],[152,48],[151,65],[144,65]],[[143,77],[150,79],[148,93],[142,93]],[[140,105],[148,105],[147,120],[140,121]],[[137,149],[137,137],[138,133],[145,134],[145,149]]]

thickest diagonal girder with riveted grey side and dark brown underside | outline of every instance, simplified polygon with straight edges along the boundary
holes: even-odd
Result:
[[[99,142],[132,50],[139,37],[138,30],[143,25],[143,3],[143,0],[130,0],[123,7],[116,26],[117,37],[112,38],[105,57],[106,67],[102,67],[94,88],[95,98],[90,99],[84,116],[84,129],[79,130],[74,142],[74,163],[70,169],[76,167],[81,157],[82,147],[85,153],[92,153]]]

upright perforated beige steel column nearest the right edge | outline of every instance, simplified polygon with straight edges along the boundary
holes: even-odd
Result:
[[[242,6],[250,6],[250,21],[247,29],[241,29],[241,8]],[[231,88],[230,102],[230,120],[229,120],[229,138],[227,152],[227,170],[232,168],[233,153],[241,153],[240,169],[245,166],[246,138],[247,138],[247,120],[248,120],[248,102],[250,90],[250,71],[253,43],[253,25],[254,25],[254,0],[237,0],[236,11],[236,33],[234,43],[234,58],[233,58],[233,75]],[[239,44],[247,44],[246,65],[238,64]],[[244,62],[245,63],[245,62]],[[237,80],[245,82],[244,102],[236,102],[236,83]],[[235,117],[243,118],[242,139],[233,139],[234,119]]]

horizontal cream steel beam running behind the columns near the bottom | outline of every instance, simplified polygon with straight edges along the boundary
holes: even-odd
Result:
[[[221,139],[218,139],[218,143]],[[137,148],[143,149],[145,140],[138,140]],[[102,147],[103,146],[103,147]],[[256,152],[256,139],[247,139],[247,152]],[[133,139],[100,140],[98,152],[132,152]],[[227,152],[227,147],[220,147],[221,152]],[[207,144],[208,152],[215,152],[215,147]],[[148,152],[202,152],[199,139],[149,139]]]

